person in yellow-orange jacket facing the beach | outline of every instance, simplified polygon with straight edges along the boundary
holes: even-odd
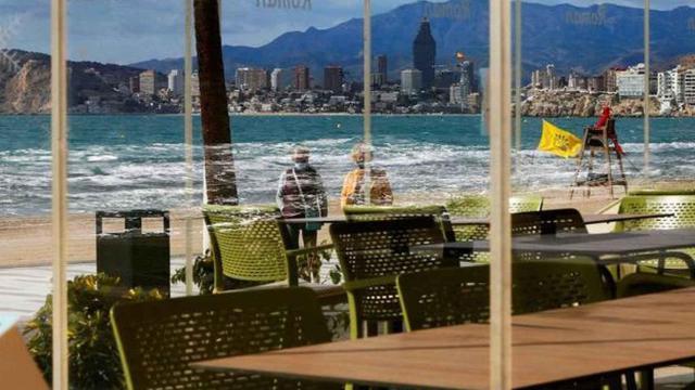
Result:
[[[357,143],[352,148],[352,159],[357,168],[345,176],[340,194],[340,207],[349,205],[389,206],[393,204],[391,183],[383,169],[369,167],[372,153],[369,145]]]

